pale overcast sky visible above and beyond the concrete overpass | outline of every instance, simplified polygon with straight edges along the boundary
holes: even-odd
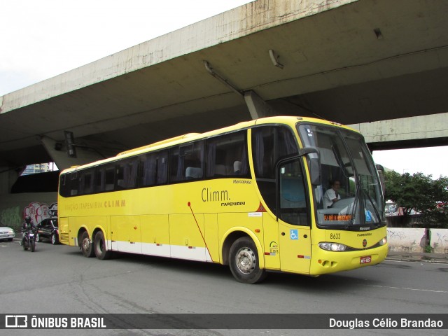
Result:
[[[0,96],[248,2],[0,0]],[[448,146],[373,158],[400,174],[448,176]]]

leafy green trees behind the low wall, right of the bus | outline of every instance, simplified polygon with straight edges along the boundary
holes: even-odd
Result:
[[[448,177],[386,172],[386,199],[397,202],[405,216],[421,213],[426,228],[448,228]]]

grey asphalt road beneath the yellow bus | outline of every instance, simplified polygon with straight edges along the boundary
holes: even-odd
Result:
[[[339,274],[270,273],[257,285],[221,265],[141,255],[84,258],[0,241],[0,314],[446,314],[448,265],[386,261]],[[249,317],[248,317],[249,318]],[[4,330],[3,330],[4,331]],[[17,335],[446,335],[445,330],[14,330]],[[1,333],[1,330],[0,330]],[[12,334],[11,334],[12,335]]]

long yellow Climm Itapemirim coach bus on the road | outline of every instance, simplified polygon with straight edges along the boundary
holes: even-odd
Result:
[[[72,167],[58,203],[60,241],[87,258],[216,262],[243,283],[374,265],[388,251],[363,137],[314,118],[251,120]]]

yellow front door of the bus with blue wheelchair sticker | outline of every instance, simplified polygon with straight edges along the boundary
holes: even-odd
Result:
[[[278,166],[276,212],[279,223],[280,269],[309,274],[311,230],[300,160],[296,158],[284,161]]]

